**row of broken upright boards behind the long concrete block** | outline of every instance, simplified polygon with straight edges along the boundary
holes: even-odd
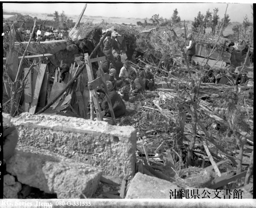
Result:
[[[46,103],[50,103],[54,100],[75,76],[79,65],[75,67],[75,63],[71,64],[64,80],[62,80],[60,68],[57,68],[54,77],[52,77],[52,87],[50,84],[51,77],[49,77],[49,73],[46,73],[47,70],[45,69],[46,64],[40,64],[40,66],[36,67],[33,73],[30,73],[28,76],[28,82],[25,87],[25,112],[36,113],[38,110],[44,108]],[[27,70],[28,68],[25,68],[25,72]],[[68,87],[49,109],[66,112],[64,110],[68,108],[75,115],[86,118],[89,99],[89,90],[85,88],[86,80],[87,73],[85,71],[85,73],[80,74],[77,82],[74,82]]]

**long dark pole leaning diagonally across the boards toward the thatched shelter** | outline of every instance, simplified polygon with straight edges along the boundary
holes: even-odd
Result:
[[[92,56],[94,55],[94,53],[98,50],[98,48],[100,47],[100,44],[103,42],[103,40],[107,37],[107,33],[102,37],[102,39],[100,40],[100,42],[98,43],[98,45],[94,48],[94,50],[92,51],[92,53],[90,54],[90,59],[92,58]],[[78,78],[78,76],[82,73],[82,71],[85,68],[85,63],[84,65],[78,70],[78,72],[76,73],[76,75],[73,77],[73,79],[71,79],[67,86],[56,96],[56,98],[54,98],[50,103],[48,103],[44,108],[42,108],[40,111],[38,111],[36,113],[43,113],[45,110],[47,110],[48,108],[50,108],[52,106],[52,104],[58,100],[58,98],[68,89],[69,86],[71,86],[71,84],[73,84],[73,82]]]

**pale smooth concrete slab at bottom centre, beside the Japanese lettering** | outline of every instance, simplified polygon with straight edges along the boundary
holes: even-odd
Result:
[[[170,189],[178,191],[174,183],[137,172],[127,190],[126,199],[170,199]]]

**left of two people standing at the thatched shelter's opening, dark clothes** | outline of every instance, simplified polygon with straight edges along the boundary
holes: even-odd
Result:
[[[106,56],[106,59],[108,61],[112,61],[114,63],[114,56],[112,53],[112,49],[114,48],[116,52],[119,54],[120,51],[118,49],[117,42],[113,39],[111,39],[111,33],[107,35],[106,40],[104,40],[104,48],[103,48],[103,54]]]

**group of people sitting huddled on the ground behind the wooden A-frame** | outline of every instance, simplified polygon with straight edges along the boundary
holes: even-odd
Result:
[[[126,60],[123,66],[119,68],[120,60],[110,63],[110,69],[107,69],[108,62],[102,61],[102,69],[106,73],[108,71],[109,80],[107,81],[108,94],[112,103],[114,114],[116,117],[125,113],[125,101],[129,101],[129,95],[143,94],[145,90],[154,90],[154,76],[150,72],[150,65],[145,65],[143,70],[132,67],[131,62]],[[113,68],[111,68],[113,67]],[[98,75],[99,76],[99,73]],[[102,91],[102,88],[99,88]],[[109,116],[109,107],[107,97],[100,100],[101,110],[105,111],[105,116]]]

